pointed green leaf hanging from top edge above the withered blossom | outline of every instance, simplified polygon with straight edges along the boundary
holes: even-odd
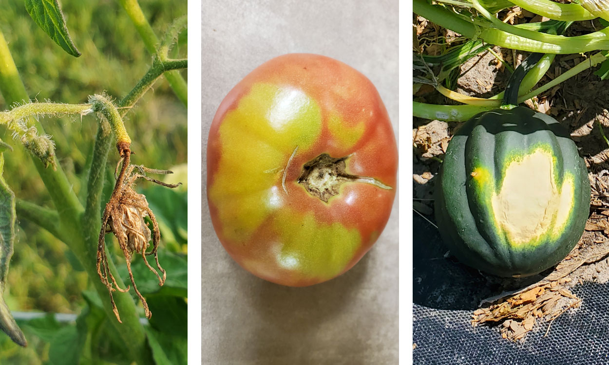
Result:
[[[26,0],[26,10],[33,21],[63,50],[74,57],[80,56],[79,50],[70,38],[62,8],[57,0]]]

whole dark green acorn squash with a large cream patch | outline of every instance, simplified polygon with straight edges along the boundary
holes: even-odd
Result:
[[[589,212],[586,165],[552,117],[494,109],[452,137],[435,214],[460,262],[498,276],[540,273],[576,245]]]

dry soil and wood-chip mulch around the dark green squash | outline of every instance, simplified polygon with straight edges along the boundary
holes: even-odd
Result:
[[[515,21],[519,19],[524,23],[530,21],[531,16],[525,13],[520,18],[516,16]],[[573,33],[570,35],[588,33],[598,27],[591,22],[581,23],[570,30]],[[421,18],[415,17],[414,25],[421,39],[452,36],[449,31],[426,23]],[[426,47],[426,44],[421,44],[422,41],[419,43],[419,51],[428,53],[428,48],[431,48],[429,53],[437,54],[436,48]],[[494,50],[513,67],[526,57],[526,54],[499,47]],[[538,85],[585,61],[586,57],[582,54],[558,55]],[[572,139],[588,167],[592,206],[583,237],[556,268],[523,280],[487,277],[489,286],[496,287],[499,283],[502,290],[498,291],[498,296],[481,303],[480,308],[474,311],[473,325],[484,322],[502,324],[504,338],[524,340],[530,330],[546,330],[548,326],[541,327],[539,322],[551,323],[566,311],[577,310],[582,300],[570,291],[575,285],[609,282],[609,142],[605,141],[599,129],[602,125],[605,133],[609,133],[609,80],[601,81],[593,74],[596,69],[581,72],[527,102],[529,107],[551,115],[571,131]],[[460,74],[453,90],[468,96],[490,97],[505,89],[510,72],[501,66],[495,55],[487,51],[463,64]],[[454,104],[428,87],[418,89],[415,98],[426,103]],[[454,122],[414,119],[413,207],[432,222],[435,176],[444,158],[446,145],[458,126],[459,123]]]

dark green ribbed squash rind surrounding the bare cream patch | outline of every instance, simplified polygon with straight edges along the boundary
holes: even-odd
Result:
[[[509,156],[540,146],[554,158],[557,184],[566,176],[574,184],[571,210],[559,232],[512,245],[496,228],[488,201],[480,198],[474,165],[495,174],[499,190]],[[505,277],[537,274],[564,259],[590,212],[588,171],[569,133],[552,117],[524,107],[487,111],[465,122],[448,145],[435,195],[438,228],[451,253],[466,265]]]

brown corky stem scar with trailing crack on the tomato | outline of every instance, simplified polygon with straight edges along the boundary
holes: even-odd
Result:
[[[322,153],[303,165],[303,172],[297,180],[298,184],[326,203],[332,196],[338,195],[340,186],[345,182],[363,182],[380,189],[393,189],[375,178],[350,175],[345,172],[347,169],[345,161],[349,156],[351,155],[333,158],[327,153]]]

